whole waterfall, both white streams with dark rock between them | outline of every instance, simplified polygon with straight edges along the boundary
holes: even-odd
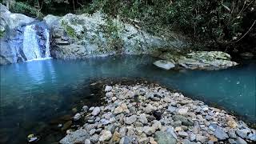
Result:
[[[25,26],[22,51],[26,61],[50,58],[49,30],[39,24]]]

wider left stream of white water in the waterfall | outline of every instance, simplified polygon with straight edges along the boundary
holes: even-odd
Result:
[[[23,37],[23,53],[25,54],[27,60],[42,58],[34,25],[25,27]]]

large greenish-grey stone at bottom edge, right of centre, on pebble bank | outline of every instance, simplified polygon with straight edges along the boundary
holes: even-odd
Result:
[[[163,131],[157,131],[154,134],[154,139],[158,144],[176,144],[174,136]]]

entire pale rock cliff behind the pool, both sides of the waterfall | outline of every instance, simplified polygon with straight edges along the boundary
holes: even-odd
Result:
[[[1,65],[43,58],[46,49],[49,49],[46,46],[48,43],[51,57],[61,59],[111,54],[155,54],[159,49],[181,49],[188,45],[181,35],[174,33],[171,38],[157,37],[138,26],[99,12],[91,15],[66,14],[63,17],[47,15],[44,22],[38,22],[24,14],[12,14],[2,4],[0,6]],[[27,26],[30,32],[35,31],[36,34],[25,34]],[[44,33],[48,27],[51,30],[50,42]],[[30,35],[36,38],[25,38]],[[34,42],[30,42],[32,40]],[[25,41],[34,45],[27,45]],[[28,47],[24,49],[24,46]]]

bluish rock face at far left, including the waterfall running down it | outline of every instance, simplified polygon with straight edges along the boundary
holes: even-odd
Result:
[[[50,56],[46,23],[23,14],[12,14],[2,4],[0,8],[0,65]]]

